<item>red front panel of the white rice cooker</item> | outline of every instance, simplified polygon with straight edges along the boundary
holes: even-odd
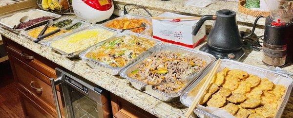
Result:
[[[83,0],[88,6],[99,10],[107,11],[112,7],[112,0]]]

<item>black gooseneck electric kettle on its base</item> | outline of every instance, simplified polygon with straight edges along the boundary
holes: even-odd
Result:
[[[253,34],[258,19],[255,20],[252,32],[248,36]],[[223,9],[217,11],[216,16],[205,15],[201,17],[192,32],[193,35],[197,34],[206,20],[215,20],[215,22],[209,32],[208,42],[199,50],[208,52],[217,59],[239,60],[245,54],[243,38],[248,36],[241,36],[237,26],[236,13]]]

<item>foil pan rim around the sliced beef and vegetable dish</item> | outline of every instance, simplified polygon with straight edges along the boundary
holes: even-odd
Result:
[[[144,56],[143,58],[141,58],[137,62],[133,63],[129,67],[126,67],[120,73],[120,76],[129,80],[130,83],[132,84],[132,86],[134,86],[134,88],[136,88],[138,90],[140,90],[140,88],[146,84],[141,81],[138,81],[136,79],[130,78],[128,76],[128,74],[131,73],[132,71],[136,70],[137,68],[139,68],[143,64],[143,61],[146,58],[153,57],[162,51],[172,51],[172,52],[179,52],[179,53],[184,53],[184,54],[188,54],[188,55],[196,55],[200,59],[204,60],[207,64],[207,66],[204,67],[202,70],[191,74],[188,77],[188,83],[186,84],[186,86],[176,93],[164,93],[164,92],[162,92],[160,90],[156,90],[156,89],[144,91],[145,93],[147,93],[147,94],[149,94],[149,95],[151,95],[161,101],[167,101],[167,102],[176,101],[178,99],[178,97],[181,95],[181,93],[183,92],[183,90],[189,84],[191,84],[194,80],[196,80],[197,77],[215,61],[215,57],[209,53],[206,53],[203,51],[196,51],[193,49],[187,49],[187,48],[183,48],[181,46],[176,46],[176,45],[171,45],[171,44],[159,45],[159,46],[155,47],[155,49],[152,49],[151,51],[152,51],[151,53],[146,54],[146,56]]]

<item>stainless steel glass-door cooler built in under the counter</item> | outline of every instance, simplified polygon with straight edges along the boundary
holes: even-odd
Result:
[[[112,117],[109,92],[70,71],[56,68],[57,79],[51,78],[53,97],[58,117],[62,118],[56,86],[62,95],[65,118]]]

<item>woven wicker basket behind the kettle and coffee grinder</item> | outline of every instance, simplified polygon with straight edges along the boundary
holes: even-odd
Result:
[[[238,3],[239,12],[241,12],[243,14],[247,14],[247,15],[254,16],[254,17],[258,17],[258,16],[268,17],[268,16],[270,16],[270,12],[247,9],[244,7],[244,4],[245,4],[245,0],[240,0]]]

